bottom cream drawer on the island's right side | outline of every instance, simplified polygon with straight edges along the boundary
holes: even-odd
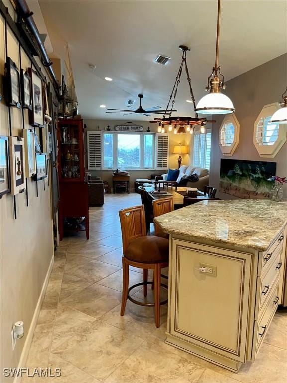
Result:
[[[259,347],[268,331],[269,325],[277,309],[277,302],[279,300],[279,282],[270,293],[268,303],[265,311],[260,320],[254,322],[254,335],[253,335],[253,359],[255,358]]]

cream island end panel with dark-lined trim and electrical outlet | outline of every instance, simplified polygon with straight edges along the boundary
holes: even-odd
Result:
[[[173,239],[171,334],[245,362],[251,257]],[[202,264],[213,273],[202,273]]]

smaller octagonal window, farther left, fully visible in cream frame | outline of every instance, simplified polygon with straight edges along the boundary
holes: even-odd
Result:
[[[219,128],[219,146],[222,154],[232,156],[239,142],[239,122],[235,114],[224,117]]]

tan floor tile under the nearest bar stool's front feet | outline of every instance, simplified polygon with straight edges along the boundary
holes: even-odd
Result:
[[[106,314],[100,317],[119,329],[129,331],[142,339],[146,339],[152,334],[156,327],[154,322],[154,308],[144,307],[127,301],[125,314],[120,316],[121,305],[116,306]],[[160,325],[166,331],[167,306],[162,306],[160,310]]]

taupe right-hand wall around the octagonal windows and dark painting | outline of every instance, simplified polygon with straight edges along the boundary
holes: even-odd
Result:
[[[275,58],[257,68],[226,83],[225,93],[236,108],[235,115],[240,124],[239,144],[233,156],[223,156],[218,145],[219,127],[224,116],[216,116],[212,124],[212,146],[209,185],[219,190],[220,159],[274,161],[276,174],[287,177],[287,142],[274,158],[261,158],[253,144],[253,124],[266,104],[278,102],[287,84],[287,54]],[[236,197],[218,192],[222,199]],[[284,185],[284,197],[287,198],[287,184]]]

